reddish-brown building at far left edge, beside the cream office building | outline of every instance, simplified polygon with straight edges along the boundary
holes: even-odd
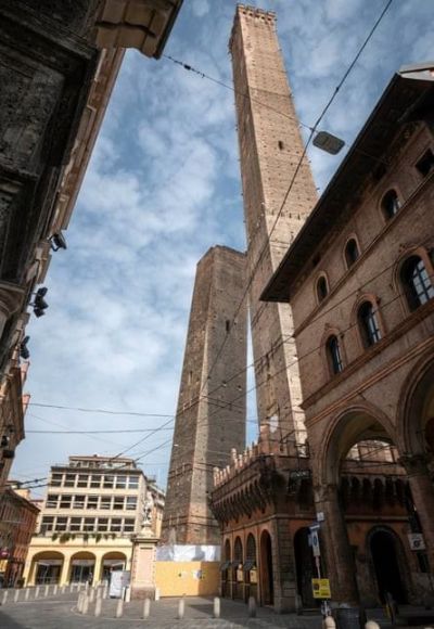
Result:
[[[0,496],[0,581],[14,588],[23,579],[31,536],[39,509],[30,501],[29,490],[8,486]]]

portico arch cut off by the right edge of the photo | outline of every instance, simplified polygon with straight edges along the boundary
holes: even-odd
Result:
[[[434,419],[434,358],[430,349],[413,367],[401,388],[396,433],[404,455],[434,455],[427,434]]]

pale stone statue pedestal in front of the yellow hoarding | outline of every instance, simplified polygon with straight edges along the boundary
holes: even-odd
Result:
[[[158,539],[143,528],[132,540],[131,599],[155,599],[155,550]]]

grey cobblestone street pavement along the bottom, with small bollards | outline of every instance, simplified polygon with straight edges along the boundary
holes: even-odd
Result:
[[[244,627],[290,629],[320,629],[319,616],[279,616],[271,609],[259,608],[257,618],[247,618],[247,607],[234,601],[221,601],[221,618],[214,619],[212,599],[186,599],[183,620],[177,619],[178,600],[152,602],[151,615],[141,619],[142,603],[132,601],[124,606],[123,618],[115,618],[117,601],[103,601],[100,618],[93,617],[93,606],[82,616],[76,609],[77,596],[64,594],[36,601],[8,602],[0,607],[1,629],[242,629]]]

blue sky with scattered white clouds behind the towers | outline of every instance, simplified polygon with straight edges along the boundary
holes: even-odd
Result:
[[[184,0],[165,54],[230,87],[235,4]],[[296,111],[312,125],[386,1],[251,4],[277,13]],[[432,0],[392,2],[321,129],[348,147],[394,72],[434,60],[432,9]],[[309,150],[319,192],[343,155]],[[127,450],[164,487],[195,265],[215,244],[245,248],[231,89],[128,51],[65,238],[44,283],[47,316],[27,328],[31,405],[12,476],[43,478],[69,454]]]

